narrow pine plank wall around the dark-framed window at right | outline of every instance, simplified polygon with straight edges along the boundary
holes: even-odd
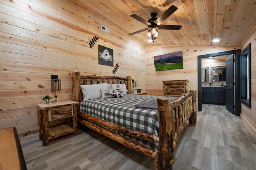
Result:
[[[249,43],[251,43],[251,108],[241,104],[241,113],[256,131],[256,29],[247,38],[241,49],[243,50]]]

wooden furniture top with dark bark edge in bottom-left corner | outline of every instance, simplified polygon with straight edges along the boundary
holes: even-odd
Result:
[[[15,127],[0,129],[0,169],[27,169]]]

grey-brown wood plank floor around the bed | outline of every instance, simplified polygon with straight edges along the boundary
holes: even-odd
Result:
[[[22,142],[28,170],[154,170],[154,161],[88,128],[42,146]],[[173,170],[255,170],[256,135],[222,105],[202,105],[178,138]]]

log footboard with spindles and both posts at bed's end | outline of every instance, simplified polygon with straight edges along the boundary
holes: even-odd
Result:
[[[159,97],[157,103],[159,147],[154,164],[156,170],[171,170],[174,148],[180,132],[188,122],[196,125],[196,92],[191,91],[172,103],[167,97]]]

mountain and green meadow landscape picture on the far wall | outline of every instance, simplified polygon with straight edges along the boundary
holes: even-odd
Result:
[[[155,71],[183,69],[182,51],[154,56]]]

